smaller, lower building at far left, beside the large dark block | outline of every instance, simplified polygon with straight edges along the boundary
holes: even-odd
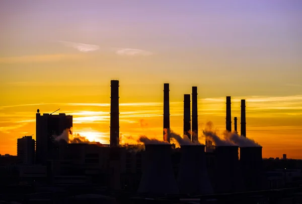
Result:
[[[31,136],[25,136],[17,140],[17,158],[19,164],[34,164],[35,140]]]

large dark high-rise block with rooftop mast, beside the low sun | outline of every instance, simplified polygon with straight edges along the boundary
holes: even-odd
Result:
[[[47,159],[52,159],[55,149],[55,136],[60,135],[65,129],[72,133],[72,115],[59,113],[53,115],[36,113],[36,162],[45,164]]]

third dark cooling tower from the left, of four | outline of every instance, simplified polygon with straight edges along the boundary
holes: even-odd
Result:
[[[238,146],[215,147],[215,192],[228,193],[242,190]]]

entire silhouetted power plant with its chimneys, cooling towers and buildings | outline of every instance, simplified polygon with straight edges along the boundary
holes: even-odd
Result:
[[[169,92],[169,84],[164,84],[163,140],[140,136],[137,142],[143,145],[120,144],[117,80],[111,80],[110,144],[73,135],[72,115],[54,114],[56,111],[41,115],[38,109],[36,142],[27,136],[17,143],[18,178],[36,192],[33,197],[23,197],[24,203],[50,203],[41,201],[45,196],[51,203],[263,201],[247,198],[270,192],[271,183],[264,174],[262,147],[246,135],[245,99],[241,100],[240,135],[237,117],[232,131],[231,96],[226,96],[223,137],[218,137],[209,122],[202,132],[202,144],[198,141],[197,87],[192,87],[192,107],[191,95],[184,94],[182,135],[170,127]],[[48,194],[37,194],[37,189],[47,189],[43,192]]]

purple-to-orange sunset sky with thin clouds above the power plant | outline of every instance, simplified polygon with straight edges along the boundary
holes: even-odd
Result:
[[[199,138],[225,129],[225,96],[263,157],[302,159],[302,2],[1,1],[0,154],[35,139],[35,113],[73,115],[73,131],[109,143],[110,80],[120,81],[120,133],[183,131],[183,94],[198,87]],[[240,122],[239,122],[240,124]],[[233,127],[234,128],[234,127]],[[240,125],[238,127],[240,131]]]

